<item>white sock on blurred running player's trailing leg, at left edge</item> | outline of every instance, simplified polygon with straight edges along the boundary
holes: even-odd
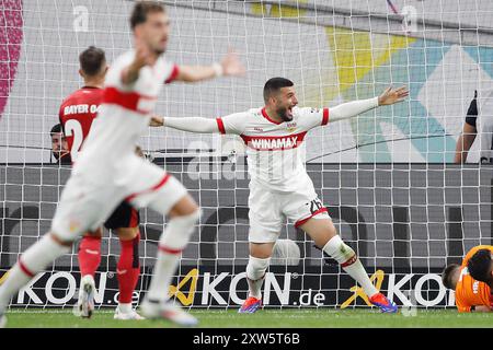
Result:
[[[0,287],[0,313],[9,305],[10,299],[37,272],[46,269],[56,258],[69,253],[70,248],[60,245],[49,233],[28,247],[10,269],[7,280]]]

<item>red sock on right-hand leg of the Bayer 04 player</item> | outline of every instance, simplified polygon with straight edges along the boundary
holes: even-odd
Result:
[[[139,241],[140,233],[134,240],[119,241],[122,250],[119,253],[116,276],[119,283],[118,302],[122,304],[131,303],[131,296],[139,279]]]

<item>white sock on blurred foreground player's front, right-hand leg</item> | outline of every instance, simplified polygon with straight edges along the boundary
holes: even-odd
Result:
[[[159,240],[158,261],[154,265],[148,299],[152,301],[168,300],[168,291],[181,253],[188,244],[199,215],[200,211],[197,210],[190,215],[173,218],[168,223]]]

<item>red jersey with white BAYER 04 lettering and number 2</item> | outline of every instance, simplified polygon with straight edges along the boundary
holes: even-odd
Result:
[[[92,121],[98,115],[103,93],[103,89],[84,86],[69,95],[60,106],[60,124],[72,162],[77,160]]]

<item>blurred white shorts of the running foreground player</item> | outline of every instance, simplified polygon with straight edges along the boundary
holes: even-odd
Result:
[[[96,177],[73,172],[67,182],[51,222],[51,232],[61,240],[73,241],[94,231],[123,200],[164,215],[186,195],[186,188],[176,178],[138,156],[118,165],[114,177]]]

